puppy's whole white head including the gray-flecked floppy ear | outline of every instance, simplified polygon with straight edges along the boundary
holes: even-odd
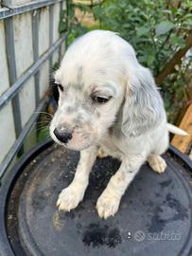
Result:
[[[138,137],[158,125],[163,102],[133,48],[110,31],[92,31],[70,46],[56,72],[53,139],[73,150],[99,142],[117,119],[117,133]],[[118,116],[118,118],[117,118]]]

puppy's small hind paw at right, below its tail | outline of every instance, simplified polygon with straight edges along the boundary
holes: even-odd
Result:
[[[148,164],[158,174],[166,171],[166,161],[160,155],[150,155],[148,157]]]

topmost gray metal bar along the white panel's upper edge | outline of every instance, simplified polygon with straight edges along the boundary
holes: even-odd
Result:
[[[22,14],[26,11],[31,11],[33,9],[40,9],[40,8],[47,7],[60,2],[63,2],[63,0],[39,0],[39,1],[30,2],[23,6],[18,6],[18,7],[10,6],[12,10],[3,8],[3,9],[0,9],[0,20],[12,17],[14,15]]]

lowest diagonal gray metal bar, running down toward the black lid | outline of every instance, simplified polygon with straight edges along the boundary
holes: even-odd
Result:
[[[26,126],[24,127],[23,131],[21,132],[20,136],[17,138],[17,140],[14,142],[13,146],[11,147],[9,154],[6,156],[6,158],[3,160],[2,164],[0,165],[0,179],[5,174],[6,170],[9,167],[9,164],[13,157],[17,154],[17,152],[20,150],[23,141],[26,137],[26,135],[29,133],[30,129],[32,128],[34,122],[38,119],[40,116],[40,111],[44,108],[44,105],[47,101],[47,98],[45,98],[37,107],[36,111],[32,115],[32,117],[27,121]]]

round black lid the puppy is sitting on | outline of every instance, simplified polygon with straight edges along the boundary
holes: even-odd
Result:
[[[73,179],[79,153],[48,147],[20,170],[9,196],[7,229],[15,255],[190,255],[189,176],[177,158],[164,157],[166,173],[143,165],[116,215],[102,220],[96,200],[119,162],[97,159],[83,201],[76,210],[63,212],[57,198]]]

